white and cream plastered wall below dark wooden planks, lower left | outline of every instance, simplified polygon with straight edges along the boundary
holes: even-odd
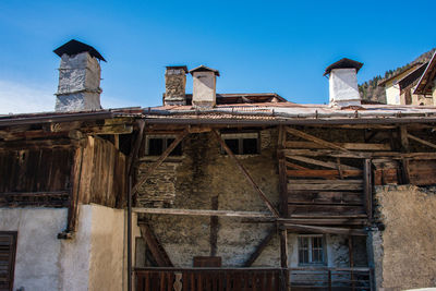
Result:
[[[66,215],[65,208],[0,208],[0,231],[19,232],[14,290],[125,290],[125,211],[82,205],[74,239],[58,240]]]

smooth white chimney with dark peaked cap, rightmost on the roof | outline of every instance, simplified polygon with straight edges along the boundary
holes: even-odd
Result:
[[[329,80],[329,105],[331,107],[361,106],[358,87],[358,72],[363,63],[341,59],[327,66],[324,75]]]

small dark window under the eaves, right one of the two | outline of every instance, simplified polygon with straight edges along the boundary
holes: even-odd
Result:
[[[256,155],[261,151],[258,133],[226,133],[221,137],[234,155]],[[223,148],[222,154],[227,154]]]

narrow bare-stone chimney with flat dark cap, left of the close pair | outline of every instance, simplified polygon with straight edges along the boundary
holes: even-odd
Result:
[[[186,65],[167,66],[164,105],[186,105]]]

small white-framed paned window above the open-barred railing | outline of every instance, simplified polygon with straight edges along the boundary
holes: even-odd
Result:
[[[323,265],[325,263],[325,247],[323,235],[299,237],[299,264]]]

